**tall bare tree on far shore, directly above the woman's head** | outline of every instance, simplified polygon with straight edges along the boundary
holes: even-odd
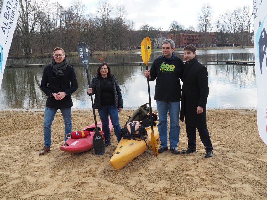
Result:
[[[109,25],[111,23],[111,12],[113,11],[113,6],[111,5],[110,1],[103,0],[97,3],[97,13],[99,14],[99,23],[102,29],[103,34],[103,49],[106,51],[108,45],[108,32],[109,32]]]

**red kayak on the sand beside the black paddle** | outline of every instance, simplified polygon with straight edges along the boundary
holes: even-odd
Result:
[[[104,133],[102,130],[102,122],[97,122],[97,126],[99,129],[100,134],[104,138]],[[61,151],[67,153],[81,153],[84,151],[88,151],[93,148],[93,136],[95,134],[95,124],[89,125],[86,128],[82,129],[81,131],[89,131],[89,135],[85,138],[78,138],[78,139],[71,139],[68,138],[64,145],[60,146],[59,149]],[[109,118],[109,129],[112,129],[112,123]]]

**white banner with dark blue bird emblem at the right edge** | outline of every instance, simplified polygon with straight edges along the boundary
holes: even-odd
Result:
[[[255,71],[257,81],[257,123],[259,135],[267,144],[267,1],[253,0],[255,27]]]

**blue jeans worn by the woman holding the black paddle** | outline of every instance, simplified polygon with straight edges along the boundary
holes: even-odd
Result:
[[[98,109],[98,114],[102,122],[102,129],[104,132],[105,140],[110,141],[110,130],[109,130],[109,120],[108,120],[108,115],[109,115],[112,126],[114,128],[115,135],[117,137],[117,141],[119,142],[122,138],[120,136],[120,131],[122,128],[119,123],[118,108],[115,108],[114,105],[101,106]]]

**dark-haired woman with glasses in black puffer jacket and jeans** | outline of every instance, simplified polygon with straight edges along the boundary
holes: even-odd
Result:
[[[121,88],[115,75],[111,74],[107,63],[100,64],[97,69],[97,75],[91,81],[91,87],[88,88],[87,94],[90,95],[92,93],[92,95],[95,95],[94,107],[98,109],[105,136],[105,146],[107,147],[111,144],[108,116],[110,116],[117,141],[119,142],[121,140],[119,134],[121,126],[118,113],[123,108]]]

